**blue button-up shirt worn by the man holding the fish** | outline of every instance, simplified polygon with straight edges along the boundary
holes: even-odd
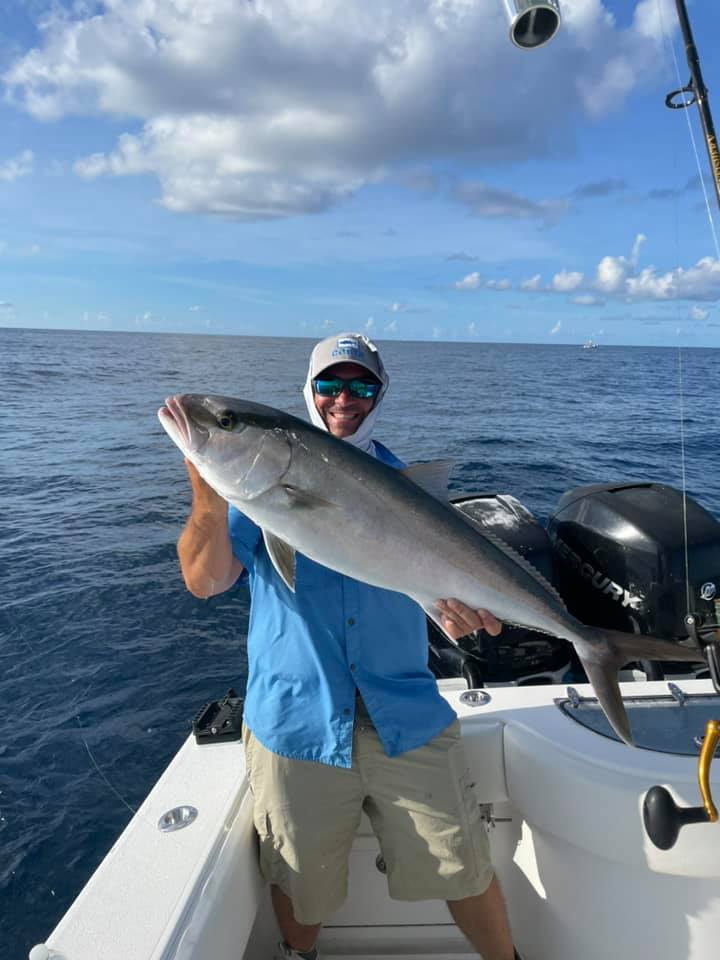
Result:
[[[378,459],[402,466],[375,446]],[[260,528],[234,507],[228,524],[250,581],[244,719],[260,743],[285,757],[350,767],[358,690],[388,756],[452,723],[455,713],[428,668],[425,614],[413,600],[300,553],[293,593]]]

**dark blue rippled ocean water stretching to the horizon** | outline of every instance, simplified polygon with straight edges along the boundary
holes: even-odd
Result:
[[[52,930],[180,747],[242,690],[243,590],[200,601],[175,540],[175,392],[304,415],[312,342],[0,329],[0,958]],[[376,435],[544,520],[579,484],[686,485],[720,517],[713,350],[382,344]],[[681,386],[682,397],[681,400]]]

